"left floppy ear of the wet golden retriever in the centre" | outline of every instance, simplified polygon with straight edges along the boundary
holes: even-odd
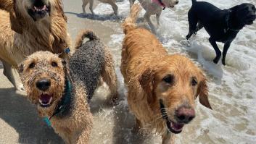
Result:
[[[154,96],[154,75],[155,72],[151,69],[146,69],[146,71],[139,78],[139,82],[141,84],[141,88],[147,94],[148,103],[152,103],[155,100]]]

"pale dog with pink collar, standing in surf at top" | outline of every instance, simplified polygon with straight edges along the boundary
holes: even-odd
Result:
[[[134,4],[135,0],[129,0],[130,1],[130,7]],[[157,25],[160,25],[160,15],[162,13],[162,10],[165,9],[165,7],[173,8],[176,4],[178,4],[178,0],[139,0],[141,3],[141,6],[146,10],[146,13],[144,14],[144,19],[146,22],[149,23],[149,26],[153,33],[155,33],[155,27],[150,20],[150,16],[153,14],[156,14],[157,17]]]

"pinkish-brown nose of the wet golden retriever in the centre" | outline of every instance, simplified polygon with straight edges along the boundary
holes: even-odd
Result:
[[[189,123],[192,119],[195,117],[195,111],[192,108],[187,108],[185,106],[181,106],[177,111],[176,111],[176,118],[178,122],[182,123]]]

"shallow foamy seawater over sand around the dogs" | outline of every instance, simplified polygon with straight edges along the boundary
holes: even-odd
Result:
[[[241,2],[256,4],[255,0],[207,0],[221,9]],[[110,16],[112,8],[99,4],[94,9],[99,16],[81,14],[81,1],[64,0],[68,28],[72,38],[83,28],[94,30],[110,47],[115,57],[119,81],[120,104],[112,108],[106,104],[107,86],[99,88],[91,103],[94,128],[91,143],[160,143],[159,136],[133,135],[134,117],[128,111],[126,90],[120,74],[120,53],[123,41],[121,22],[129,13],[128,0],[117,2],[119,16]],[[199,31],[190,41],[185,41],[189,25],[187,12],[190,0],[181,0],[174,9],[162,12],[157,37],[170,54],[185,54],[205,69],[210,88],[212,111],[197,101],[197,117],[176,135],[176,143],[256,143],[256,25],[244,27],[231,44],[226,66],[213,64],[215,52],[208,42],[205,30]],[[140,17],[144,12],[141,12]],[[155,18],[152,17],[153,22]],[[145,24],[146,25],[146,24]],[[222,49],[223,44],[218,43]]]

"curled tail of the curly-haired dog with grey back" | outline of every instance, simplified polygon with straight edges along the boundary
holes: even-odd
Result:
[[[93,40],[99,40],[99,38],[95,35],[95,33],[92,30],[82,30],[75,40],[75,49],[80,48],[83,44],[83,39],[89,38],[90,41]]]

